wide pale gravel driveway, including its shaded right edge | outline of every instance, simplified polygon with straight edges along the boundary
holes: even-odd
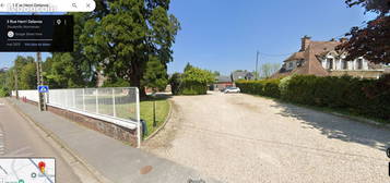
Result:
[[[390,182],[390,131],[243,94],[178,96],[145,149],[224,182]]]

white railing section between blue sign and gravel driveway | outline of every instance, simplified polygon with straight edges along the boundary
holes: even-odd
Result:
[[[137,122],[137,88],[50,89],[48,105]]]

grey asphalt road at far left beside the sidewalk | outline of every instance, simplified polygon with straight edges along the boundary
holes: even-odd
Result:
[[[68,162],[4,99],[0,98],[0,156],[55,157],[56,181],[79,183]]]

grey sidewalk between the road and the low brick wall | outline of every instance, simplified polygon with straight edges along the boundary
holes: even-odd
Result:
[[[9,101],[75,154],[92,172],[103,181],[106,180],[104,182],[107,182],[107,179],[116,183],[185,183],[189,182],[189,179],[204,180],[206,183],[217,182],[190,168],[133,148],[51,112],[39,112],[33,105],[16,99]]]

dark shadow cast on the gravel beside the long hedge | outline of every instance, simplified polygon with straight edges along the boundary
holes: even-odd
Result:
[[[390,130],[361,123],[333,114],[275,101],[271,107],[282,109],[276,113],[303,121],[304,127],[317,129],[328,138],[358,143],[386,151],[390,147]]]

